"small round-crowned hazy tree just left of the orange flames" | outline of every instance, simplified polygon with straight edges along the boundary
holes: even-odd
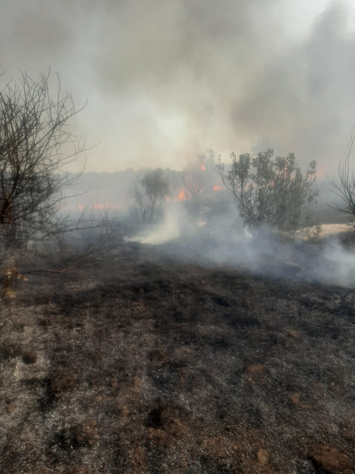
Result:
[[[157,207],[169,195],[169,179],[161,168],[146,171],[133,183],[130,194],[142,221],[152,222],[157,217]]]

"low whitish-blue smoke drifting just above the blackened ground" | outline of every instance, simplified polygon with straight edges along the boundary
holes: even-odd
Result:
[[[271,278],[355,287],[354,249],[337,236],[317,245],[304,239],[281,243],[267,233],[252,239],[243,232],[236,212],[210,211],[188,212],[181,203],[172,203],[160,224],[146,226],[125,241],[148,245],[160,258],[178,263],[237,266]]]

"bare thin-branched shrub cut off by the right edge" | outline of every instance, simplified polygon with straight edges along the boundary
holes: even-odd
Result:
[[[348,214],[351,222],[355,225],[355,172],[350,170],[350,156],[355,148],[355,128],[351,131],[350,141],[345,152],[345,161],[339,160],[338,164],[338,178],[330,179],[328,181],[332,186],[334,192],[343,201],[343,205],[337,204],[333,201],[331,208],[340,212]]]

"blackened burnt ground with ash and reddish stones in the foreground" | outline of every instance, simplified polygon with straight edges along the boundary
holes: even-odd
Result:
[[[0,472],[354,473],[353,294],[176,249],[20,286]]]

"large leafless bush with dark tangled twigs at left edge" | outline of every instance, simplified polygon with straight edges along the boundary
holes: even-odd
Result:
[[[84,105],[85,106],[85,105]],[[58,76],[55,99],[49,73],[38,81],[21,73],[0,91],[0,381],[6,373],[6,344],[16,324],[11,298],[25,275],[62,274],[84,261],[104,256],[120,239],[108,210],[63,213],[66,192],[78,182],[66,167],[86,149],[86,139],[68,129],[75,109],[62,96]],[[38,258],[29,243],[40,250]]]

